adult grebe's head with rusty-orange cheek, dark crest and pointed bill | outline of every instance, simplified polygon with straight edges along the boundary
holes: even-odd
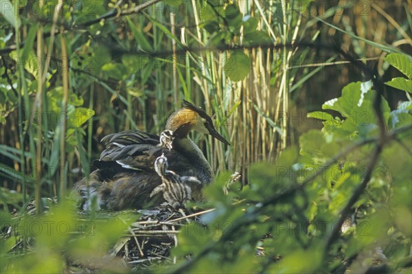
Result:
[[[176,138],[185,138],[190,133],[190,130],[196,130],[200,133],[209,134],[230,146],[229,141],[214,128],[211,117],[203,109],[194,106],[194,104],[186,100],[183,100],[183,108],[170,115],[166,128],[172,130]]]

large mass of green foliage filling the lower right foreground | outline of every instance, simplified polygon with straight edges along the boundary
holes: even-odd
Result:
[[[216,209],[179,234],[172,254],[192,259],[175,271],[196,273],[208,266],[211,272],[339,273],[345,260],[357,272],[373,266],[376,249],[385,254],[392,272],[401,271],[411,245],[412,121],[390,122],[400,109],[390,111],[383,98],[385,126],[409,128],[396,135],[399,143],[387,141],[365,192],[350,202],[366,179],[379,134],[375,96],[371,82],[348,84],[341,97],[323,104],[341,118],[309,113],[324,126],[301,135],[299,155],[290,148],[275,165],[253,165],[249,185],[243,190],[233,187],[227,196],[221,192],[227,176],[207,187],[208,205]],[[410,109],[409,103],[400,108]],[[357,119],[358,113],[365,113],[365,119]],[[412,116],[410,111],[402,115]],[[348,220],[334,235],[348,203]],[[357,256],[364,266],[351,266]]]

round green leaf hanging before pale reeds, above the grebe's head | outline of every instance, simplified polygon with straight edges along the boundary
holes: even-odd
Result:
[[[250,67],[251,59],[249,56],[246,56],[243,52],[234,52],[230,58],[227,59],[223,70],[230,80],[238,82],[249,74]]]

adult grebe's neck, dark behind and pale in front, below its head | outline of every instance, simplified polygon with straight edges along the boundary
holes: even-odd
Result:
[[[189,138],[176,138],[173,142],[174,148],[192,162],[192,166],[199,169],[199,176],[203,178],[198,178],[202,183],[211,183],[214,179],[213,170],[209,162],[206,160],[205,155],[196,144]]]

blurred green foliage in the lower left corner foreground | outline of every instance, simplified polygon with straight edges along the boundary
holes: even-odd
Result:
[[[79,218],[76,205],[65,201],[52,205],[43,216],[11,218],[1,211],[3,234],[0,245],[1,273],[61,273],[73,262],[110,273],[126,271],[114,255],[107,255],[130,222],[127,214],[99,214]],[[16,245],[30,244],[31,251]]]

